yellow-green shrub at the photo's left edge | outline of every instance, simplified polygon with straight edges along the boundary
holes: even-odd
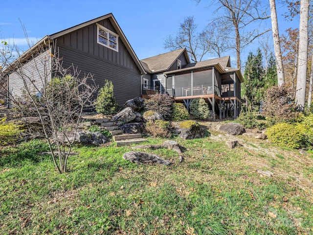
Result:
[[[16,122],[6,122],[6,118],[0,119],[0,145],[6,145],[17,141],[21,130],[21,125]]]

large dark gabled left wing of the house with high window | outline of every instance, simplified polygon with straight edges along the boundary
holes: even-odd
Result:
[[[34,56],[38,50],[40,53]],[[23,72],[32,77],[37,86],[41,86],[43,78],[53,76],[49,72],[53,66],[50,54],[55,53],[62,58],[64,68],[73,65],[81,74],[91,73],[99,87],[105,79],[111,80],[119,105],[141,95],[141,76],[146,72],[111,13],[47,35],[23,53],[19,58],[24,64]],[[23,82],[14,66],[11,68],[13,71],[7,69],[9,90],[19,95]]]

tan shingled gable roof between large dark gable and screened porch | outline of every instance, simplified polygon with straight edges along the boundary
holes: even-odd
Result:
[[[190,63],[186,48],[181,48],[178,50],[166,52],[164,54],[159,54],[153,57],[149,57],[149,58],[140,60],[140,62],[143,64],[144,67],[146,67],[145,70],[149,73],[167,71],[182,53],[185,54],[187,63]]]

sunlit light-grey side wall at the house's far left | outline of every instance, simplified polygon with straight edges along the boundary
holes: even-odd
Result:
[[[9,93],[14,98],[21,96],[25,90],[25,81],[28,90],[33,94],[38,94],[42,92],[50,78],[51,52],[48,49],[9,74]]]

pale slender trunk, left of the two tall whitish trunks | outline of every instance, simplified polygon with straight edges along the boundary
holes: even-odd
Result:
[[[276,58],[276,65],[277,65],[277,84],[280,87],[284,84],[285,77],[284,77],[282,52],[280,48],[275,0],[269,0],[269,5],[270,5],[270,18],[272,22],[275,58]]]

